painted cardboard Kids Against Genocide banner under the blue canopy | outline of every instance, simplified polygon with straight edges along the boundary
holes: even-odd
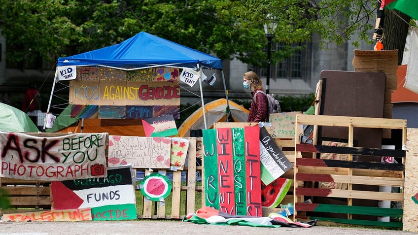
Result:
[[[76,79],[70,81],[71,117],[143,119],[172,114],[180,118],[178,68],[77,70]]]

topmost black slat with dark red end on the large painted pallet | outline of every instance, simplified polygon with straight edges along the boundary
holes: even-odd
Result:
[[[370,155],[384,157],[405,157],[405,150],[398,149],[379,149],[379,148],[361,148],[361,147],[345,147],[345,146],[328,146],[313,144],[296,144],[296,151],[308,153],[337,153],[337,154],[354,154],[354,155]]]

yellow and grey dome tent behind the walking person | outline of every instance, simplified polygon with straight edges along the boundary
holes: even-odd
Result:
[[[226,99],[218,99],[205,104],[207,122],[213,126],[215,122],[224,122],[226,119]],[[249,111],[234,101],[229,101],[232,117],[235,122],[246,122]],[[208,127],[211,128],[211,127]],[[205,129],[202,107],[193,112],[178,128],[178,135],[189,137],[190,130]]]

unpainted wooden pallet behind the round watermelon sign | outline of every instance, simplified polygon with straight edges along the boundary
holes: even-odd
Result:
[[[188,139],[190,142],[186,166],[183,170],[172,171],[173,187],[171,198],[169,196],[164,202],[159,202],[149,201],[142,197],[141,202],[137,201],[137,206],[139,204],[142,205],[142,208],[137,208],[137,210],[140,211],[138,214],[139,219],[182,219],[184,216],[195,213],[196,210],[199,209],[196,208],[196,204],[201,204],[203,199],[198,196],[198,192],[201,192],[203,187],[196,184],[196,174],[199,171],[203,171],[203,168],[197,166],[196,156],[202,156],[202,150],[201,148],[198,148],[202,138],[189,137]],[[144,175],[147,175],[150,172],[150,169],[137,170],[143,170]],[[155,169],[154,171],[164,174],[169,170]],[[185,185],[182,185],[182,172],[186,172],[186,181],[183,182]],[[201,175],[203,175],[203,172],[201,172]],[[139,188],[137,188],[137,193],[140,194]],[[171,208],[166,206],[169,198],[171,200]]]

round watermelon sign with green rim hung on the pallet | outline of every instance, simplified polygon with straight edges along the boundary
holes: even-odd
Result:
[[[139,188],[146,199],[150,201],[164,201],[171,193],[172,183],[165,175],[151,173],[143,178]]]

